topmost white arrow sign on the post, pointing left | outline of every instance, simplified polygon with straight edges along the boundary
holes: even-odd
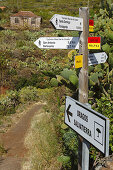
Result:
[[[83,18],[55,14],[50,22],[56,29],[83,31]]]

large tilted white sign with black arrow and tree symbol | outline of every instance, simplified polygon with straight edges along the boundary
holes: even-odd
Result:
[[[101,152],[109,150],[109,119],[102,114],[66,97],[65,123]]]

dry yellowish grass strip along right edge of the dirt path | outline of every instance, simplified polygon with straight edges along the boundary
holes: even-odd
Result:
[[[43,110],[37,114],[25,139],[29,148],[28,161],[23,170],[58,170],[61,163],[57,158],[61,152],[51,114]]]

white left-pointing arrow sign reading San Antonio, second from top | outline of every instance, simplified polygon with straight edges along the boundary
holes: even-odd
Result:
[[[79,49],[79,37],[40,37],[34,44],[43,49]]]

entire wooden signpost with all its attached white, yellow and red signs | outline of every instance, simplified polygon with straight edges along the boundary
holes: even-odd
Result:
[[[79,37],[40,37],[34,42],[42,49],[79,49],[75,68],[79,73],[79,102],[66,97],[65,123],[79,134],[78,170],[89,169],[89,146],[92,144],[106,156],[109,155],[109,119],[95,112],[88,103],[88,66],[106,62],[105,52],[92,53],[88,49],[101,49],[100,37],[89,37],[94,31],[94,21],[89,20],[89,9],[79,9],[79,18],[55,14],[50,22],[56,29],[79,31]]]

